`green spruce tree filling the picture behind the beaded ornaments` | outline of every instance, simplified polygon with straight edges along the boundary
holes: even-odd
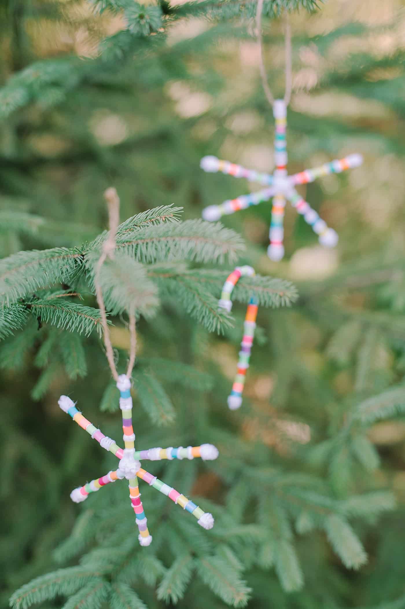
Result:
[[[4,605],[12,595],[18,609],[405,607],[403,11],[395,0],[264,2],[275,91],[280,15],[291,13],[291,170],[365,157],[307,187],[339,232],[337,253],[287,211],[275,264],[266,204],[225,226],[199,219],[242,182],[203,174],[200,157],[271,171],[255,10],[233,0],[0,7]],[[94,297],[112,183],[127,219],[100,281],[119,371],[132,307],[139,318],[136,443],[220,451],[216,462],[155,464],[216,524],[200,530],[146,488],[149,548],[125,485],[69,500],[111,457],[100,463],[57,407],[69,393],[120,436]],[[244,306],[233,317],[217,299],[236,261],[259,275],[233,298],[255,295],[259,315],[244,405],[230,412]]]

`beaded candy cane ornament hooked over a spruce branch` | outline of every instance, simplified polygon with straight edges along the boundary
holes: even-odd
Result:
[[[253,277],[254,275],[255,270],[250,266],[236,267],[236,269],[231,272],[227,278],[227,281],[224,283],[218,306],[222,309],[226,309],[228,313],[230,313],[232,309],[231,294],[233,288],[236,286],[236,283],[238,283],[238,280],[242,276]],[[253,338],[255,337],[257,314],[258,301],[256,298],[252,297],[249,300],[245,316],[241,351],[239,351],[238,370],[236,371],[232,390],[227,400],[228,406],[231,410],[236,410],[242,406],[242,393],[245,386],[246,371],[249,367]]]

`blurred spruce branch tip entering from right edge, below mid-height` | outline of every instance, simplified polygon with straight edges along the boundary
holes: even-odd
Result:
[[[405,385],[397,385],[362,401],[354,410],[353,417],[371,424],[382,418],[393,417],[404,410]]]

